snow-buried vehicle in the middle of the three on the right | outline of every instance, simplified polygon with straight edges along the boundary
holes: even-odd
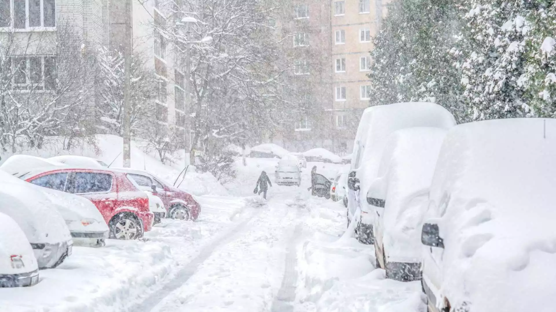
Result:
[[[376,264],[386,270],[386,278],[420,279],[423,203],[445,136],[444,129],[415,127],[387,139],[378,178],[366,195],[376,213]]]

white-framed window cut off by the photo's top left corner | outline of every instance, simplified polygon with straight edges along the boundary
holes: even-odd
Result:
[[[55,0],[0,0],[0,27],[56,27]]]

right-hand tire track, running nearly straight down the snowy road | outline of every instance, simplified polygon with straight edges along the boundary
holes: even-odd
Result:
[[[305,204],[297,204],[297,217],[299,217],[303,208],[305,208]],[[278,290],[274,302],[272,302],[272,312],[291,312],[294,310],[292,303],[295,300],[295,290],[297,286],[297,272],[295,270],[297,262],[296,247],[302,233],[301,224],[301,222],[297,222],[297,224],[292,227],[291,243],[286,251],[284,279],[282,279],[282,285]]]

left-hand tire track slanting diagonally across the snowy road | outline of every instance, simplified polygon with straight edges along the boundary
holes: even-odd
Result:
[[[212,255],[213,251],[215,251],[219,246],[225,245],[233,240],[236,235],[245,228],[245,225],[247,225],[247,223],[251,222],[253,218],[261,213],[262,209],[260,208],[264,206],[266,206],[266,203],[264,205],[251,205],[251,207],[254,207],[255,210],[248,218],[237,224],[234,228],[226,232],[224,235],[219,236],[218,239],[215,239],[209,245],[205,246],[205,248],[203,248],[195,258],[193,258],[184,266],[183,269],[176,273],[176,276],[173,279],[167,281],[167,283],[162,286],[161,289],[150,294],[140,303],[130,306],[127,311],[150,312],[152,309],[154,309],[159,303],[161,303],[164,298],[170,295],[174,290],[180,288],[187,282],[188,279],[191,278],[191,276],[197,273],[199,266]]]

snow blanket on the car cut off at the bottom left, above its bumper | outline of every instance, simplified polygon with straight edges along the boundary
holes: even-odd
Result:
[[[19,225],[3,213],[0,213],[0,224],[0,274],[22,274],[37,270],[37,259]],[[12,255],[19,256],[24,265],[13,266]]]

